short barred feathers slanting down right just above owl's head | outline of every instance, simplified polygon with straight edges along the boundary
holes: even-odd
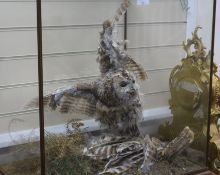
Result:
[[[121,61],[123,62],[121,64],[124,65],[124,68],[127,69],[128,71],[133,72],[138,79],[140,80],[147,79],[146,71],[141,65],[136,63],[133,58],[131,58],[130,56],[127,56]]]

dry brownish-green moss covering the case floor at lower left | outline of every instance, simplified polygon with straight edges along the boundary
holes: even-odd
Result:
[[[27,151],[39,144],[26,144]],[[83,134],[70,136],[47,134],[45,140],[47,175],[94,175],[102,170],[106,162],[94,161],[82,155],[85,145]],[[19,148],[20,150],[20,148]],[[40,158],[33,157],[0,166],[6,175],[40,174]]]

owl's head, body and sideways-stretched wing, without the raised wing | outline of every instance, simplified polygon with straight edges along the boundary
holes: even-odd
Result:
[[[38,100],[29,106],[37,106]],[[92,83],[58,89],[44,97],[44,105],[61,113],[95,116],[101,124],[121,134],[138,135],[142,116],[138,85],[133,73],[120,69]]]

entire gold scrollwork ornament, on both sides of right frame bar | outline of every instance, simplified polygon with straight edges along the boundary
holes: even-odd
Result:
[[[188,125],[195,133],[193,146],[205,150],[201,145],[206,142],[208,116],[208,94],[210,78],[210,52],[207,54],[196,27],[192,38],[183,43],[186,58],[171,72],[169,101],[173,122],[161,126],[159,133],[164,139],[171,140]],[[192,46],[194,48],[192,49]],[[213,67],[212,109],[210,124],[209,162],[212,170],[220,174],[220,78],[216,74],[217,65]]]

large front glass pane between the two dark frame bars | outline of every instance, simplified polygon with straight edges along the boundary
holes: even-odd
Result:
[[[43,1],[47,174],[206,167],[212,6]]]

